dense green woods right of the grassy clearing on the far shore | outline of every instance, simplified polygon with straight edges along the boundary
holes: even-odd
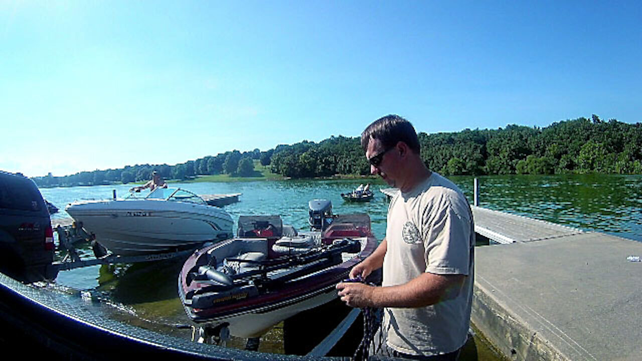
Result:
[[[508,125],[418,136],[422,160],[444,175],[642,173],[642,123],[596,115],[545,128]],[[370,173],[360,137],[278,146],[271,161],[272,172],[293,178]]]

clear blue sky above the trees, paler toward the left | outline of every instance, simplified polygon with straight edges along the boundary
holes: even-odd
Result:
[[[641,1],[0,0],[0,170],[642,121]]]

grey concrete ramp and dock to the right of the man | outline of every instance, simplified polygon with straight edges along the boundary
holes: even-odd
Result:
[[[475,248],[471,319],[503,355],[642,360],[642,262],[627,260],[642,259],[641,242],[482,207],[473,215],[490,245]]]

